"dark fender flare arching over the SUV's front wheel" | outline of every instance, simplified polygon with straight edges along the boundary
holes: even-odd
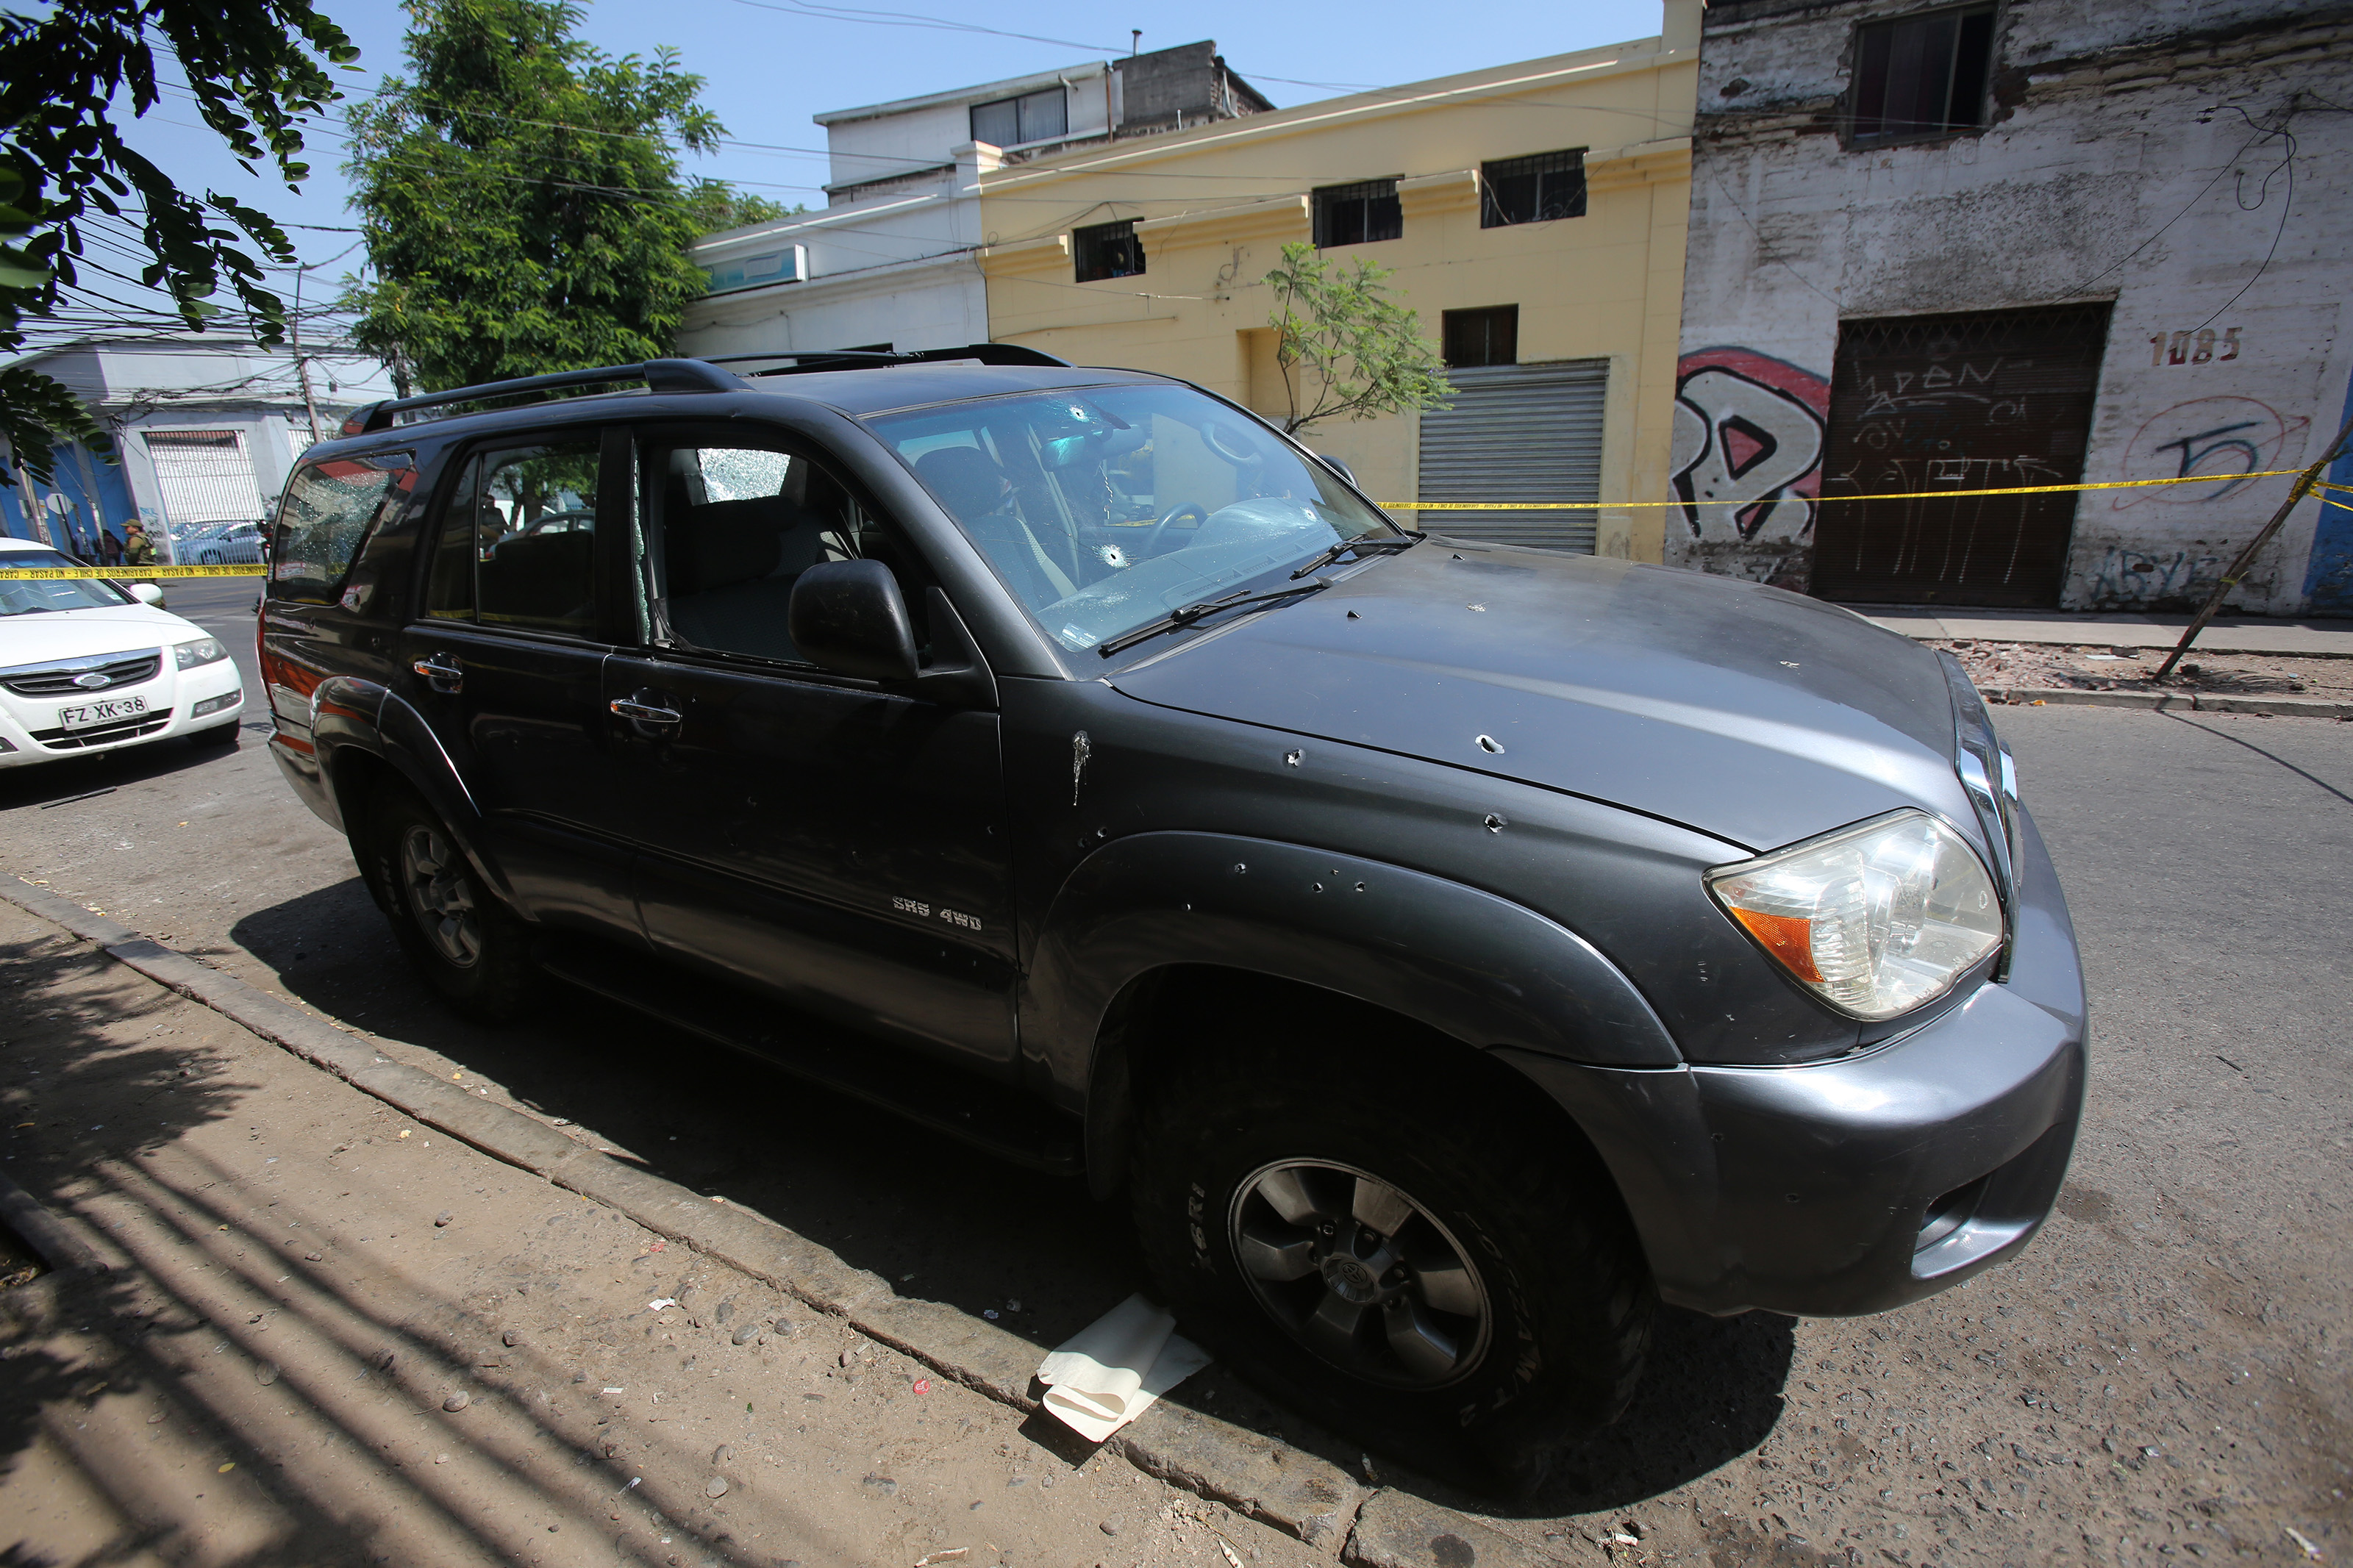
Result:
[[[1087,1117],[1096,1182],[1118,1175],[1127,1119],[1120,1046],[1099,1060],[1118,1034],[1106,1018],[1134,980],[1176,964],[1315,985],[1480,1051],[1682,1067],[1633,980],[1527,905],[1301,844],[1139,832],[1064,882],[1021,990],[1024,1051]]]

